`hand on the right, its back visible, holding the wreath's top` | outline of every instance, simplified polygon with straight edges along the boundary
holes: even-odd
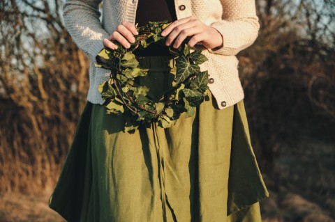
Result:
[[[170,33],[170,35],[169,35]],[[188,36],[192,36],[188,41],[188,45],[204,45],[207,49],[215,47],[223,47],[223,36],[214,27],[207,26],[197,17],[190,16],[184,19],[178,19],[172,22],[162,32],[163,36],[169,35],[166,45],[171,45],[174,41],[174,48],[178,48]]]

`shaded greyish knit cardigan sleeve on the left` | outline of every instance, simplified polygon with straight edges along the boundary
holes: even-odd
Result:
[[[64,24],[75,44],[84,51],[91,61],[103,49],[103,38],[109,38],[101,26],[98,10],[101,0],[66,0]]]

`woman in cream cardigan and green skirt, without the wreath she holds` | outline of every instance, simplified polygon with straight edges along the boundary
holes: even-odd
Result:
[[[87,104],[77,124],[50,207],[68,221],[261,221],[269,197],[251,146],[236,54],[258,35],[254,0],[68,0],[64,21],[91,60]],[[209,59],[209,101],[163,129],[155,122],[122,132],[124,116],[106,114],[98,85],[109,77],[95,68],[103,47],[128,48],[139,26],[172,22],[166,45],[202,49]],[[158,96],[176,68],[166,47],[134,52],[148,77],[139,83]]]

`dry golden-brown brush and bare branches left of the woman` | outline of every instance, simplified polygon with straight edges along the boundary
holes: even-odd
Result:
[[[50,191],[88,89],[61,1],[1,2],[0,191]]]

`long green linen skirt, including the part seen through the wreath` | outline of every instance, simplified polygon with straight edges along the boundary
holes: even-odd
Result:
[[[137,81],[158,97],[171,86],[175,60],[138,57]],[[262,221],[269,197],[251,146],[241,100],[220,110],[210,100],[168,129],[151,122],[122,132],[124,116],[87,102],[49,206],[74,222]]]

